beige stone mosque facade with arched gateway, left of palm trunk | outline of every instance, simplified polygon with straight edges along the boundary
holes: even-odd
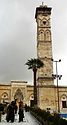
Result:
[[[28,106],[33,105],[33,86],[26,81],[12,80],[10,83],[0,84],[0,103],[23,101]]]

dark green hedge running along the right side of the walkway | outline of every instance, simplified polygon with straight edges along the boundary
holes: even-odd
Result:
[[[30,108],[30,111],[33,115],[42,123],[45,124],[47,121],[47,125],[67,125],[67,121],[65,119],[60,118],[59,114],[50,114],[45,110],[41,110],[40,108]]]

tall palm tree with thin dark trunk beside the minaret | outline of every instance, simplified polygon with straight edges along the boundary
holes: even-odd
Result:
[[[40,59],[30,59],[27,61],[26,65],[28,65],[28,69],[33,70],[34,76],[34,105],[37,105],[37,85],[36,85],[36,73],[37,69],[43,67],[44,63]]]

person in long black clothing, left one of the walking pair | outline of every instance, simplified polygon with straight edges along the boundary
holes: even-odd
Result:
[[[6,120],[7,120],[7,122],[9,122],[9,121],[14,122],[14,103],[13,103],[13,101],[7,107]]]

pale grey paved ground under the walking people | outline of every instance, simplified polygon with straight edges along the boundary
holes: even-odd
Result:
[[[36,120],[36,118],[34,118],[34,116],[32,116],[30,114],[30,112],[24,112],[24,120],[23,122],[18,122],[18,114],[15,116],[15,121],[14,123],[7,123],[6,121],[6,115],[2,115],[2,120],[0,122],[0,125],[41,125],[39,123],[39,121]]]

